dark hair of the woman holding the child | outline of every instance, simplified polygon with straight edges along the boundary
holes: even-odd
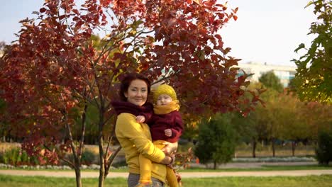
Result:
[[[143,74],[138,74],[138,73],[131,73],[131,74],[126,74],[123,79],[121,80],[120,84],[120,91],[119,91],[119,96],[121,101],[127,101],[126,96],[124,93],[128,91],[129,86],[131,85],[131,81],[133,80],[142,80],[145,81],[146,85],[148,85],[148,94],[150,94],[151,91],[151,84],[148,78],[143,76]]]

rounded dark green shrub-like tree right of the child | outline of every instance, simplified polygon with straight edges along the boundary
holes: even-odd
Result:
[[[211,120],[203,120],[199,125],[199,137],[194,153],[199,162],[217,164],[230,162],[236,147],[236,132],[231,123],[231,115],[216,115]]]

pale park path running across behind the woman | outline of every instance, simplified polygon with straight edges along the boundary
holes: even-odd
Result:
[[[206,178],[224,176],[310,176],[332,175],[332,169],[324,170],[295,170],[295,171],[218,171],[218,172],[180,172],[182,178]],[[27,170],[0,170],[0,175],[11,176],[50,176],[75,177],[74,171],[27,171]],[[109,178],[126,178],[128,173],[111,172]],[[98,178],[99,171],[82,171],[82,178]]]

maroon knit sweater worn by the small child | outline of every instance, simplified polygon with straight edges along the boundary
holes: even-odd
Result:
[[[183,131],[183,122],[178,111],[160,115],[153,114],[151,118],[149,118],[150,113],[143,113],[143,115],[145,116],[145,121],[150,126],[153,141],[165,140],[171,143],[179,141],[179,137],[182,135]],[[167,137],[165,135],[165,129],[171,129],[172,136]]]

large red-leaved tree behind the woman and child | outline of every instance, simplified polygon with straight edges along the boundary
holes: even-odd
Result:
[[[214,0],[45,1],[37,18],[21,21],[18,40],[1,58],[0,94],[7,103],[1,117],[24,137],[23,149],[44,162],[67,162],[82,186],[87,110],[97,108],[103,186],[119,150],[111,154],[112,135],[103,132],[114,123],[110,103],[123,74],[140,72],[174,86],[184,116],[246,115],[260,101],[254,92],[241,99],[248,76],[237,77],[239,60],[228,56],[231,48],[218,33],[237,19],[236,11]],[[96,33],[100,40],[92,40]]]

